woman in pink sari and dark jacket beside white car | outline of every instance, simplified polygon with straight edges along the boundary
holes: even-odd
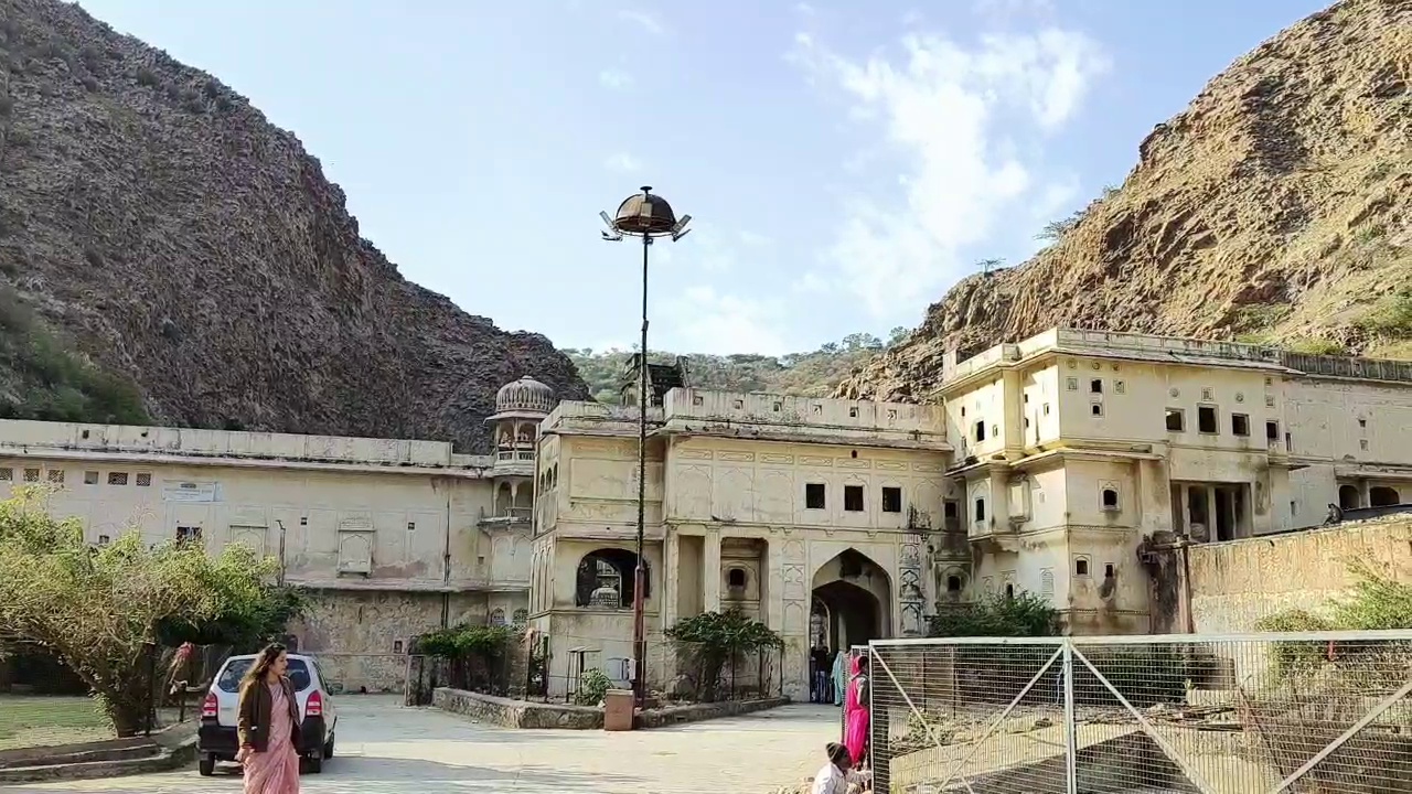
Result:
[[[260,651],[240,681],[240,752],[244,794],[299,794],[299,704],[285,677],[289,657],[284,646]]]

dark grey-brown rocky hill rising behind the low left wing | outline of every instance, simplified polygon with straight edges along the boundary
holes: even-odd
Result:
[[[408,283],[299,140],[78,6],[0,0],[0,415],[483,449],[537,333]]]

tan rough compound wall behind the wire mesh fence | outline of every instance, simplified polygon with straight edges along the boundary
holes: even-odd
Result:
[[[1412,519],[1193,545],[1187,552],[1196,633],[1245,633],[1267,615],[1320,610],[1346,595],[1356,582],[1353,559],[1391,564],[1412,581]]]

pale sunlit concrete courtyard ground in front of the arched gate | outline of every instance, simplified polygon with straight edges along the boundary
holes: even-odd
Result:
[[[304,794],[765,794],[823,764],[839,735],[832,706],[778,709],[657,730],[508,730],[398,698],[339,701],[335,757],[301,778]],[[184,771],[16,786],[6,793],[236,794],[240,776]]]

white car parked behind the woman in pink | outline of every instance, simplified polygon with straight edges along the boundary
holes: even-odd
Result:
[[[339,716],[333,698],[323,687],[319,663],[312,656],[288,654],[289,668],[285,675],[294,684],[295,699],[299,702],[299,756],[305,759],[309,771],[323,771],[323,759],[333,757],[333,729]],[[254,664],[256,656],[233,656],[220,665],[216,681],[201,704],[201,728],[196,733],[196,750],[201,753],[201,774],[216,770],[216,762],[233,762],[240,750],[236,733],[236,719],[240,705],[240,680]]]

